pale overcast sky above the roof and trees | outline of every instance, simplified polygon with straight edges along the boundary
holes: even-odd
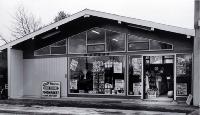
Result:
[[[14,39],[10,29],[13,27],[13,16],[19,5],[23,5],[26,10],[40,18],[43,25],[53,22],[59,11],[74,14],[87,8],[194,28],[194,0],[0,0],[0,34],[7,40]]]

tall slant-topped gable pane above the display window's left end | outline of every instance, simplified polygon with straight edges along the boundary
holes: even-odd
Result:
[[[82,32],[69,38],[69,53],[86,53],[86,32]]]

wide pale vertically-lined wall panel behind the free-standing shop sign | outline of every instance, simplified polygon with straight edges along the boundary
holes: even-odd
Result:
[[[67,58],[24,59],[24,97],[41,97],[42,81],[60,81],[61,97],[67,96]]]

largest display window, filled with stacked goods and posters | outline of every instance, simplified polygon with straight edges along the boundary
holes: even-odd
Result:
[[[70,58],[70,93],[124,95],[124,59],[124,56]]]

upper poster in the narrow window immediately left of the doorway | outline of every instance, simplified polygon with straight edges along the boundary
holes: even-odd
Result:
[[[133,74],[141,75],[142,73],[142,58],[133,58]]]

